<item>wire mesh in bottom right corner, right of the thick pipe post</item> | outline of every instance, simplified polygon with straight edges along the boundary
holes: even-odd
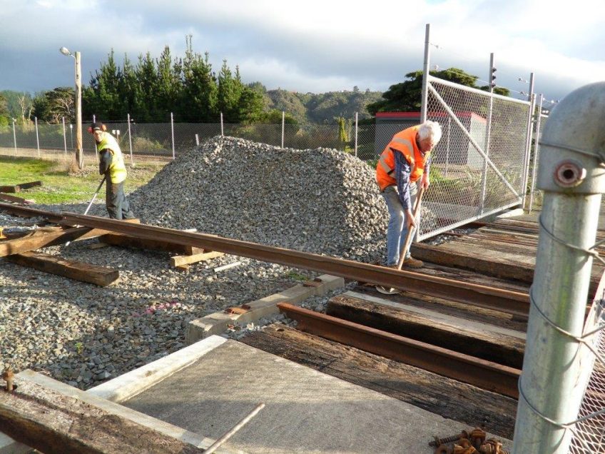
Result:
[[[593,311],[595,313],[596,323],[591,329],[597,326],[605,325],[605,300],[600,299],[594,302]],[[589,317],[589,320],[591,318]],[[594,349],[602,355],[605,352],[605,332],[598,331],[593,338]],[[592,353],[589,353],[592,355]],[[594,359],[594,356],[592,356]],[[584,370],[589,369],[589,365],[583,365]],[[581,421],[574,425],[572,429],[571,445],[569,453],[571,454],[594,454],[605,453],[605,413],[596,414],[605,408],[605,364],[600,360],[595,360],[594,367],[584,397],[580,406],[578,419]],[[592,416],[591,416],[592,415]],[[586,418],[586,419],[583,419]]]

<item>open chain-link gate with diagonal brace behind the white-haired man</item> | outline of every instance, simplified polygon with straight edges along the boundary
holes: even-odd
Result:
[[[529,101],[428,76],[427,120],[442,126],[418,241],[522,203]]]

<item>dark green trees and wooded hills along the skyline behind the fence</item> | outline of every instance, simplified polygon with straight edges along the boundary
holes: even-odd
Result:
[[[136,64],[125,55],[123,64],[116,63],[113,50],[106,62],[91,75],[82,91],[84,121],[94,116],[99,120],[126,120],[128,114],[138,123],[166,123],[169,114],[178,122],[217,123],[223,114],[225,123],[280,123],[282,111],[287,123],[304,126],[309,123],[331,123],[342,126],[343,118],[358,112],[362,123],[373,122],[381,111],[420,111],[422,70],[405,75],[405,81],[380,91],[331,91],[325,94],[302,94],[282,89],[267,90],[260,82],[244,84],[239,67],[231,71],[227,61],[215,74],[208,52],[193,51],[191,36],[185,37],[185,55],[173,58],[166,46],[159,58],[150,53],[139,55]],[[433,76],[457,84],[477,86],[477,76],[462,69],[431,71]],[[496,87],[494,92],[509,96],[509,91]],[[3,96],[4,95],[4,96]],[[57,87],[33,97],[15,91],[0,92],[0,126],[9,125],[11,116],[18,123],[38,121],[60,123],[61,118],[73,123],[76,93],[72,87]]]

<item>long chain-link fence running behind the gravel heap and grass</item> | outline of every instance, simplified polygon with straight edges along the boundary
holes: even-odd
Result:
[[[344,134],[337,124],[104,123],[118,138],[126,162],[131,163],[167,161],[221,134],[286,148],[335,148],[363,160],[377,157],[375,125],[356,125],[354,119],[346,122]],[[93,163],[98,157],[87,127],[88,123],[83,124],[83,155],[86,163]],[[75,156],[75,130],[75,125],[66,124],[63,128],[61,123],[0,126],[0,154],[71,162]]]

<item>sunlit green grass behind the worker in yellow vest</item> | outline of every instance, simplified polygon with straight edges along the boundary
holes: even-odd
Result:
[[[127,165],[126,193],[148,183],[164,166],[163,163],[137,163],[135,168]],[[90,201],[101,183],[96,165],[86,166],[81,171],[70,171],[68,164],[42,159],[15,159],[0,157],[0,186],[41,181],[42,186],[29,188],[14,196],[33,198],[36,203],[80,203]],[[105,197],[101,189],[101,199]]]

